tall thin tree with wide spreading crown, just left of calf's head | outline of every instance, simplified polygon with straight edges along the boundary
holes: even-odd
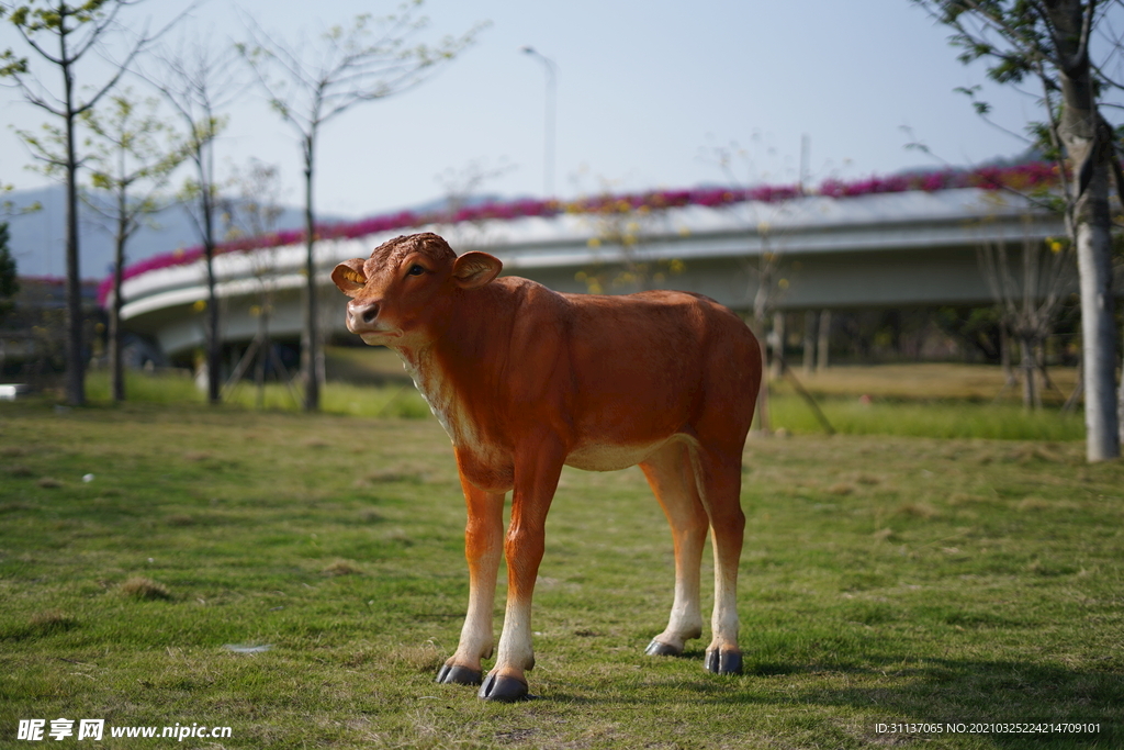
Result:
[[[314,255],[312,181],[317,138],[325,125],[355,105],[409,91],[425,82],[472,44],[481,29],[477,26],[463,36],[446,37],[434,46],[416,43],[415,38],[428,24],[424,16],[417,15],[422,0],[411,0],[400,6],[397,13],[384,18],[357,16],[348,28],[334,26],[324,33],[314,49],[278,39],[247,19],[250,39],[238,45],[270,106],[300,139],[305,166],[307,275],[301,365],[305,408],[310,412],[320,407],[319,360],[323,356]]]

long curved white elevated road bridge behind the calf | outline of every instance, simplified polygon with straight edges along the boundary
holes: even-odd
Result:
[[[1057,215],[1014,193],[977,188],[435,223],[316,243],[326,334],[345,333],[344,297],[328,279],[335,264],[423,231],[442,234],[459,253],[492,253],[505,273],[559,291],[682,289],[740,311],[752,308],[765,254],[777,263],[769,290],[776,309],[988,305],[994,298],[980,247],[1005,243],[1016,251],[1064,235]],[[216,257],[226,344],[253,338],[266,297],[270,335],[299,340],[303,254],[298,243]],[[125,328],[165,356],[182,360],[203,346],[201,260],[134,275],[123,298]]]

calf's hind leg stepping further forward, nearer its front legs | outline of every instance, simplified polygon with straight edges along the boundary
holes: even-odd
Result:
[[[645,653],[680,656],[685,643],[703,634],[699,566],[706,543],[707,514],[696,487],[688,448],[671,442],[640,464],[671,526],[676,551],[676,594],[671,616]]]

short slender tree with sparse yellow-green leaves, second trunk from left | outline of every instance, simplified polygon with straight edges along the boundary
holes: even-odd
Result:
[[[99,196],[87,200],[112,226],[114,296],[109,308],[109,365],[115,401],[125,400],[125,369],[121,356],[121,280],[126,246],[144,226],[145,218],[164,206],[160,191],[172,171],[187,157],[167,123],[156,114],[157,101],[137,102],[130,92],[110,98],[109,111],[88,109],[82,123],[93,134],[90,142],[90,181],[96,190],[109,193],[108,205]],[[166,141],[162,143],[162,136]]]

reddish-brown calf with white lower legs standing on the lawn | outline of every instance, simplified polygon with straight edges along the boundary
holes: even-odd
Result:
[[[741,671],[741,459],[761,381],[753,334],[698,295],[562,295],[497,278],[500,268],[487,253],[457,257],[427,233],[391,240],[332,273],[352,297],[348,329],[401,356],[453,441],[468,503],[469,611],[437,681],[482,683],[480,697],[497,701],[527,694],[531,597],[563,466],[638,464],[663,506],[676,593],[668,627],[647,653],[679,654],[701,635],[699,564],[710,527],[715,603],[706,668]],[[501,551],[507,612],[496,666],[483,678]]]

